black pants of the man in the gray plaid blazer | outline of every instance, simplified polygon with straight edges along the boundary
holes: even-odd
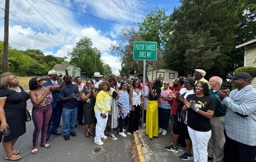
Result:
[[[224,131],[224,162],[255,162],[256,146],[249,146],[229,138]]]

